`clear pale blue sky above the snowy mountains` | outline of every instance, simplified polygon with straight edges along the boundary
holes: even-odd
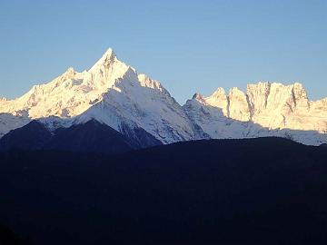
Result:
[[[325,0],[2,0],[0,96],[88,69],[112,47],[180,103],[258,81],[327,97],[326,13]]]

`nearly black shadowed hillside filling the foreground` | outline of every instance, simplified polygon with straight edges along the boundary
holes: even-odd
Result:
[[[0,154],[0,223],[35,244],[326,244],[327,152],[279,138]]]

